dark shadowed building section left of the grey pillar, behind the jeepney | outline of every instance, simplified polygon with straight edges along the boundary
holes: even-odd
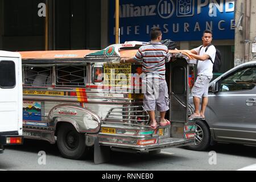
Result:
[[[101,0],[0,0],[0,49],[98,49]]]

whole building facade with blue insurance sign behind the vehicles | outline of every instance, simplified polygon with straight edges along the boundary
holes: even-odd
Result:
[[[120,42],[149,41],[159,26],[179,49],[200,46],[205,29],[225,72],[256,59],[256,1],[119,0]],[[0,49],[102,49],[115,42],[115,0],[0,0]]]

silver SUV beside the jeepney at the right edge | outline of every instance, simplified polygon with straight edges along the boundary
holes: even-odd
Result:
[[[193,103],[193,99],[189,101]],[[209,85],[205,121],[196,121],[191,150],[205,150],[215,142],[256,146],[256,61],[230,69]]]

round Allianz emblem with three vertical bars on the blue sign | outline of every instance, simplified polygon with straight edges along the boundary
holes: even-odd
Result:
[[[161,0],[158,3],[158,14],[161,18],[170,18],[175,11],[175,4],[172,0]]]

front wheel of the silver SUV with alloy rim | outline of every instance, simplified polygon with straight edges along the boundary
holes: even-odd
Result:
[[[186,146],[189,150],[204,151],[210,146],[210,130],[205,121],[196,121],[196,136],[193,144]]]

